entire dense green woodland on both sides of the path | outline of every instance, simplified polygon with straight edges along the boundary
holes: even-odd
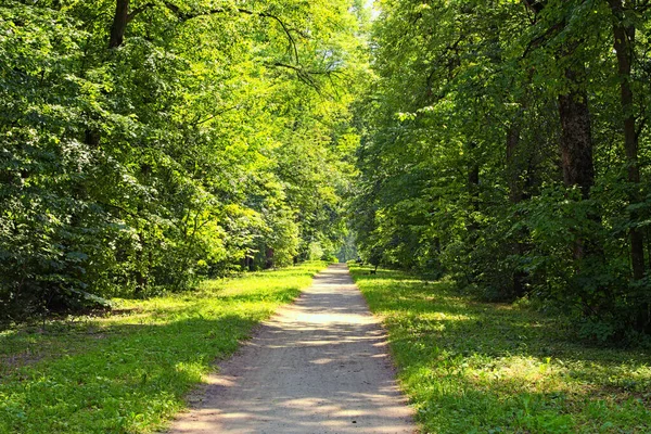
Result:
[[[5,0],[2,319],[363,260],[651,333],[651,2]]]

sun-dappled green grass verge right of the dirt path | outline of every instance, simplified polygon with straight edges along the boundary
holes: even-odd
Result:
[[[651,433],[651,357],[446,282],[352,267],[425,433]]]

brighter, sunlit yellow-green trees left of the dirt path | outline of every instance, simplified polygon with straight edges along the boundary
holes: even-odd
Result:
[[[0,320],[332,256],[360,11],[4,0]]]

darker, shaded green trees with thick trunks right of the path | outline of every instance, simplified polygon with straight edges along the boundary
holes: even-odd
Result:
[[[374,263],[651,333],[651,2],[382,0],[354,206]]]

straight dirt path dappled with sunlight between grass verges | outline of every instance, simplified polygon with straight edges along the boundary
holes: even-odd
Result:
[[[416,431],[384,331],[345,265],[319,273],[219,371],[170,433]]]

